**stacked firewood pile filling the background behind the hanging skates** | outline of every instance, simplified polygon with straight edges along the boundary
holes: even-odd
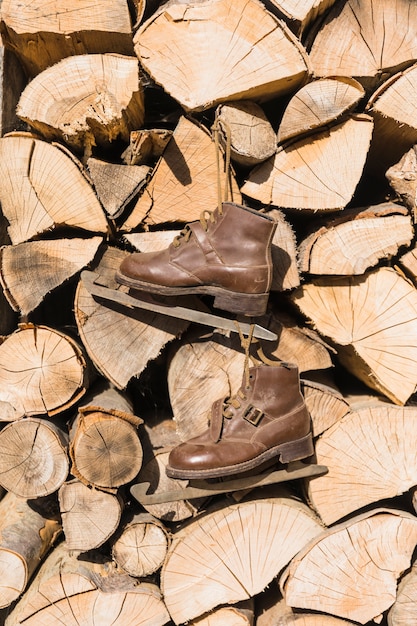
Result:
[[[417,623],[417,4],[2,0],[0,32],[2,623]],[[244,352],[80,275],[216,207],[215,117],[329,472],[145,508]]]

